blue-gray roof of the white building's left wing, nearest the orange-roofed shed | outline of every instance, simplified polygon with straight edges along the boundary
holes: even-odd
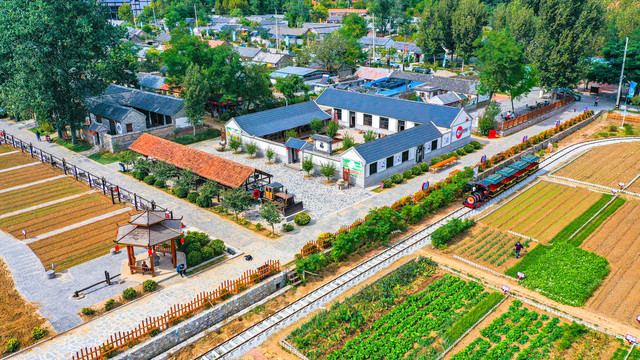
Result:
[[[314,117],[330,119],[313,101],[265,110],[235,117],[234,120],[249,135],[264,136],[309,124]]]

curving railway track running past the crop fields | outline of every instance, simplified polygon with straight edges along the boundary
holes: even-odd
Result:
[[[591,140],[570,145],[562,150],[557,151],[556,153],[553,153],[550,157],[543,160],[540,163],[539,169],[549,172],[551,167],[558,161],[562,161],[575,156],[577,153],[590,147],[631,141],[640,141],[640,137]],[[499,201],[502,198],[511,196],[511,194],[529,184],[535,178],[536,177],[534,176],[528,177],[524,181],[513,186],[508,191],[505,191],[496,198],[492,199],[492,202]],[[382,269],[390,266],[397,259],[413,253],[423,246],[429,244],[431,234],[449,220],[454,218],[464,219],[467,217],[475,216],[479,212],[483,211],[484,208],[485,207],[482,207],[480,208],[480,211],[478,211],[477,209],[460,207],[450,212],[437,222],[426,226],[418,233],[409,236],[402,242],[394,245],[393,247],[383,251],[382,253],[372,258],[364,260],[344,274],[339,275],[335,279],[318,287],[311,293],[278,310],[275,314],[269,316],[267,319],[262,320],[261,322],[244,330],[240,334],[228,339],[227,341],[211,349],[209,352],[202,355],[198,359],[228,360],[233,359],[234,357],[241,356],[251,347],[255,347],[266,341],[269,336],[273,335],[278,330],[291,325],[295,321],[298,321],[299,319],[307,316],[311,312],[317,310],[320,306],[328,303],[351,287],[359,284],[360,282],[373,276]]]

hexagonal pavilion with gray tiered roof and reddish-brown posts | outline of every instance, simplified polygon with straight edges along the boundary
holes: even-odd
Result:
[[[132,274],[136,271],[143,274],[150,271],[151,276],[155,276],[154,253],[171,253],[171,261],[175,268],[177,266],[175,239],[182,237],[183,233],[181,219],[167,219],[165,213],[161,211],[145,211],[131,215],[129,223],[118,228],[116,243],[127,246],[129,269]],[[165,250],[169,247],[168,243],[170,243],[171,250]],[[136,263],[134,247],[147,249],[151,263],[148,269],[138,266]]]

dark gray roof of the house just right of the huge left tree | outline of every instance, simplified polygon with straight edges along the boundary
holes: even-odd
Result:
[[[178,99],[177,97],[160,95],[114,84],[110,84],[105,94],[97,99],[168,116],[173,116],[180,111],[184,103],[182,99]]]

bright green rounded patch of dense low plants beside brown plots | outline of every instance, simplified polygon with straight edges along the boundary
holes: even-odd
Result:
[[[602,256],[568,243],[538,245],[521,262],[506,271],[525,274],[522,285],[563,304],[581,306],[609,274]]]

